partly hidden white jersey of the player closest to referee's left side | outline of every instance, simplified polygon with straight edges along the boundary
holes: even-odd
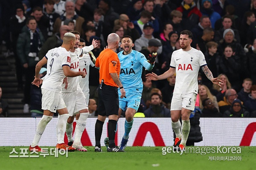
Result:
[[[85,78],[79,77],[79,85],[83,92],[89,92],[89,68],[90,66],[94,67],[95,65],[90,59],[88,53],[84,54],[82,57],[79,57],[79,71],[85,71]]]

